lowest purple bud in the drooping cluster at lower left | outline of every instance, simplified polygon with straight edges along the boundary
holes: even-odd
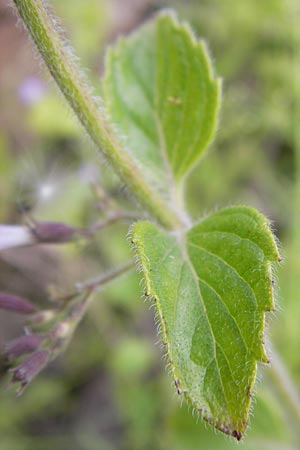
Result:
[[[21,390],[33,380],[48,364],[50,354],[47,350],[37,350],[14,369],[11,369],[12,382],[21,383]]]

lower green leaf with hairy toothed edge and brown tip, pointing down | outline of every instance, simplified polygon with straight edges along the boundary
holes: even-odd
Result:
[[[132,242],[155,302],[178,393],[219,430],[246,429],[279,254],[255,209],[220,210],[184,234],[137,222]]]

